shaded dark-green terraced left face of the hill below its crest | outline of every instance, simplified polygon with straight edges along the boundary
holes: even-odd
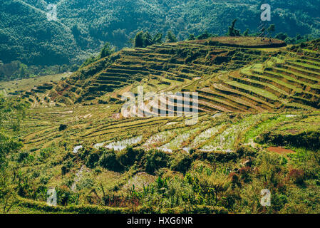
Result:
[[[250,39],[252,48],[248,48],[250,46],[243,38],[211,38],[147,48],[124,48],[81,69],[68,80],[53,86],[52,90],[46,90],[46,85],[31,90],[29,101],[36,100],[37,104],[33,103],[36,106],[48,103],[71,105],[88,100],[104,102],[110,97],[119,100],[123,90],[136,93],[137,86],[144,86],[146,92],[186,90],[217,72],[264,61],[279,51],[277,47],[285,45],[277,40],[247,39]]]

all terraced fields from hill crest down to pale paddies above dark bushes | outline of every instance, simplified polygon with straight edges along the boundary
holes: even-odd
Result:
[[[320,105],[319,53],[307,49],[303,53],[283,48],[262,50],[267,48],[224,46],[223,42],[215,46],[210,41],[125,48],[67,80],[26,91],[23,96],[29,99],[32,108],[54,105],[64,108],[35,109],[26,122],[29,130],[21,135],[26,145],[36,148],[48,145],[49,140],[67,137],[76,140],[76,145],[87,143],[96,149],[122,150],[136,145],[167,152],[183,148],[232,151],[242,141],[244,132],[251,132],[244,141],[252,140],[249,136],[254,130],[250,129],[263,123],[267,114],[249,115],[232,124],[217,125],[214,121],[216,124],[192,128],[185,125],[182,105],[206,117],[209,116],[206,113],[316,110]],[[145,93],[175,95],[145,100],[135,109],[140,117],[123,118],[121,93],[137,94],[138,86],[143,86]],[[197,103],[182,98],[182,92],[197,92]],[[77,103],[87,106],[83,109]],[[159,116],[160,113],[165,115]],[[174,115],[169,117],[169,113]],[[113,118],[115,115],[118,118]],[[277,123],[283,118],[266,121]],[[60,132],[58,124],[70,127]],[[255,131],[261,133],[262,127]]]

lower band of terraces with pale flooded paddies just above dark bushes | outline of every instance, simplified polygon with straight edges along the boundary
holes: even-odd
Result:
[[[301,118],[301,114],[239,114],[237,118],[230,118],[229,114],[210,115],[201,114],[197,125],[188,126],[184,117],[135,118],[111,121],[110,115],[104,112],[103,105],[94,105],[91,108],[96,114],[91,122],[81,120],[78,110],[61,108],[56,112],[36,114],[38,120],[31,115],[31,122],[25,123],[25,147],[32,150],[41,150],[61,140],[74,141],[70,150],[78,152],[87,145],[98,150],[106,147],[115,151],[124,150],[128,146],[142,147],[146,150],[158,149],[164,152],[177,152],[191,149],[204,152],[233,152],[244,142],[254,140],[261,133],[279,123]],[[43,112],[43,109],[41,109]],[[100,112],[100,113],[99,113]],[[49,114],[50,113],[50,114]],[[53,116],[65,113],[61,122]],[[231,114],[231,116],[234,114]],[[60,115],[61,116],[61,115]],[[294,117],[294,118],[293,118]],[[66,123],[68,128],[62,132],[57,123]],[[172,124],[171,124],[172,123]]]

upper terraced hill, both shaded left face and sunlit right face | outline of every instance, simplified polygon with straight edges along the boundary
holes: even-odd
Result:
[[[220,37],[125,48],[56,86],[38,86],[24,96],[33,106],[121,102],[124,91],[137,93],[143,86],[145,93],[196,91],[199,109],[205,112],[319,108],[320,53],[314,51],[319,41],[287,49],[281,48],[281,41],[259,42],[260,38]],[[252,46],[244,48],[245,43]],[[175,107],[172,100],[165,105]]]

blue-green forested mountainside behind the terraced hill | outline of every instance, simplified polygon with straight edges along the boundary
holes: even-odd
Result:
[[[56,4],[57,21],[48,21],[48,4]],[[269,1],[276,33],[320,35],[320,1]],[[260,24],[261,2],[212,0],[4,0],[0,5],[0,61],[28,66],[81,64],[105,42],[132,46],[138,31],[172,31],[178,40],[204,31],[225,35],[237,19],[243,33]]]

